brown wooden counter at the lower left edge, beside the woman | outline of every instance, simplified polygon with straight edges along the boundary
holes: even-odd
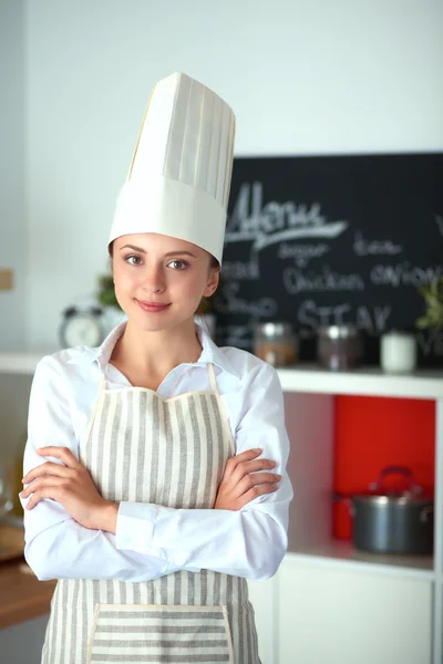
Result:
[[[0,563],[0,629],[49,613],[56,581],[39,581],[24,558]]]

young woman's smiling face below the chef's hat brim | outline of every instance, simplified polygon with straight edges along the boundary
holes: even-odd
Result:
[[[119,304],[143,330],[188,321],[203,295],[218,286],[219,268],[200,247],[154,232],[114,240],[113,276]]]

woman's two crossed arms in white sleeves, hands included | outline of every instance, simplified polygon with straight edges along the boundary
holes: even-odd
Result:
[[[264,414],[257,398],[257,409],[245,414],[236,432],[238,454],[226,466],[215,509],[172,509],[113,504],[99,494],[78,458],[68,400],[60,406],[60,377],[53,375],[51,385],[54,394],[45,390],[42,403],[35,374],[30,401],[34,428],[27,445],[25,488],[20,496],[24,554],[39,579],[142,581],[179,569],[203,568],[251,579],[275,573],[286,551],[292,496],[285,474],[288,442],[281,439],[281,427],[275,427],[276,417],[282,416],[282,404],[272,402],[277,412],[269,413],[268,407]],[[260,390],[265,394],[266,385]],[[59,404],[56,413],[52,412],[54,404]],[[272,460],[259,458],[260,453],[248,445],[248,417],[257,419],[260,414],[266,422],[260,423],[255,443],[262,448],[262,457],[276,453]],[[278,437],[279,445],[275,440],[274,446],[269,444],[272,436]],[[55,445],[38,450],[40,440]],[[282,473],[281,480],[272,468]]]

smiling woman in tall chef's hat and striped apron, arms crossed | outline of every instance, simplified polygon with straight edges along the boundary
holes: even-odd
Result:
[[[109,245],[127,322],[35,371],[21,500],[27,561],[59,579],[48,664],[259,663],[246,578],[287,544],[281,388],[194,320],[218,284],[229,113],[183,74],[156,85]]]

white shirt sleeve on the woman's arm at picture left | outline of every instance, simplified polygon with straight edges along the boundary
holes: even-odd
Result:
[[[61,459],[37,454],[35,449],[45,445],[68,447],[79,458],[68,384],[52,356],[41,360],[32,381],[24,474],[48,459],[62,464]],[[166,573],[163,553],[158,551],[157,556],[154,547],[150,553],[119,550],[113,533],[84,528],[60,502],[44,498],[27,510],[28,500],[20,497],[24,510],[24,558],[40,580],[145,581]]]

